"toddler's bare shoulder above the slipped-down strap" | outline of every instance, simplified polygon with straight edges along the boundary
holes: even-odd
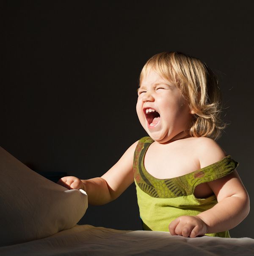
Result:
[[[221,148],[221,146],[211,138],[195,138],[195,140],[193,140],[193,143],[195,144],[200,168],[216,163],[227,155],[226,152]]]

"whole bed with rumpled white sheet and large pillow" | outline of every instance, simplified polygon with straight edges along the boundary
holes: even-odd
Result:
[[[76,225],[84,191],[66,190],[0,148],[0,255],[254,255],[254,239]]]

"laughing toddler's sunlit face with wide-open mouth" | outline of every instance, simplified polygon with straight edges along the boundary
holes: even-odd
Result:
[[[176,85],[150,70],[138,90],[138,119],[148,135],[159,143],[185,137],[192,115]]]

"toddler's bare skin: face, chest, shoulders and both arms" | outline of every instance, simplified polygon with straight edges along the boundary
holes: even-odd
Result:
[[[190,138],[188,128],[193,111],[182,98],[179,89],[167,79],[151,71],[142,81],[138,92],[137,113],[141,125],[155,141],[144,158],[146,170],[154,177],[178,177],[213,164],[226,156],[221,147],[210,138]],[[160,121],[149,125],[146,108],[160,113]],[[88,203],[102,205],[115,200],[134,181],[133,155],[138,141],[133,143],[119,161],[102,177],[80,180],[63,177],[58,184],[69,189],[84,189]],[[206,198],[215,194],[218,200],[213,208],[197,216],[181,216],[168,223],[171,235],[185,237],[217,233],[238,225],[249,212],[249,197],[235,170],[231,174],[196,187],[194,195]]]

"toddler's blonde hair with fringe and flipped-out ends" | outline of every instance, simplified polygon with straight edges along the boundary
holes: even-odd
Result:
[[[195,57],[179,52],[163,52],[146,62],[139,84],[151,69],[176,84],[188,100],[194,112],[190,135],[218,139],[226,124],[220,118],[221,91],[213,71]]]

